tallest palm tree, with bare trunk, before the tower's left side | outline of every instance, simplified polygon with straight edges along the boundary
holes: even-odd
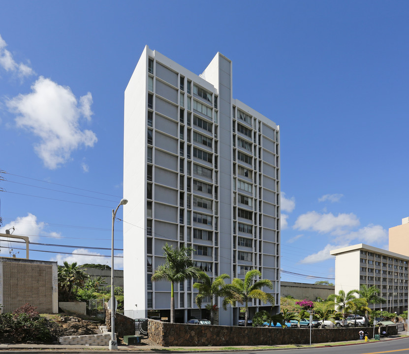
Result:
[[[165,263],[158,266],[152,274],[152,281],[167,280],[170,282],[170,322],[175,322],[175,294],[174,283],[181,283],[185,280],[198,278],[201,279],[205,272],[193,266],[190,254],[193,248],[186,247],[184,244],[179,249],[174,249],[167,243],[163,246],[163,255]]]

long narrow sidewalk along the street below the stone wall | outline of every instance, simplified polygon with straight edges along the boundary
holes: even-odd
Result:
[[[401,332],[406,334],[406,332]],[[388,340],[395,340],[407,338],[407,336],[401,337],[399,334],[390,337],[382,337],[381,342]],[[337,347],[345,345],[355,345],[355,344],[365,344],[365,343],[374,343],[376,341],[371,340],[370,342],[364,342],[360,340],[354,340],[349,342],[333,342],[333,343],[313,343],[312,347]],[[152,341],[149,338],[142,340],[141,345],[120,345],[118,351],[112,351],[115,353],[118,352],[128,352],[130,353],[140,353],[140,352],[226,352],[226,351],[259,351],[259,350],[274,350],[274,349],[295,349],[295,348],[310,348],[309,345],[277,345],[277,346],[228,346],[228,347],[161,347]],[[24,354],[30,353],[34,354],[36,352],[43,353],[44,351],[61,351],[61,352],[70,352],[70,354],[81,353],[84,351],[92,351],[94,354],[102,354],[109,352],[108,343],[106,346],[87,346],[87,345],[59,345],[59,344],[0,344],[0,351],[5,350],[7,353],[16,353]],[[111,353],[112,353],[111,352]]]

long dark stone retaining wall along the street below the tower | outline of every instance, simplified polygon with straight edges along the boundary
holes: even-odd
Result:
[[[358,332],[361,329],[368,330],[372,338],[373,327],[314,328],[311,341],[326,343],[355,340],[359,339]],[[397,334],[396,326],[389,326],[388,334]],[[150,340],[164,347],[310,344],[310,330],[307,328],[171,324],[155,320],[148,320],[148,336]]]

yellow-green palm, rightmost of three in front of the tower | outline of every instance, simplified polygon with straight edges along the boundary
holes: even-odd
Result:
[[[239,278],[234,278],[231,282],[232,295],[226,297],[226,301],[232,305],[238,301],[245,306],[244,325],[247,326],[249,317],[249,299],[256,298],[263,302],[274,302],[274,296],[261,290],[262,287],[273,289],[273,283],[268,279],[253,280],[256,276],[261,277],[261,272],[257,269],[249,270],[244,281]]]

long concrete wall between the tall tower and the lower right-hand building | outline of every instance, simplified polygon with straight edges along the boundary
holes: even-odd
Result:
[[[290,295],[296,299],[315,301],[319,296],[325,300],[329,295],[334,294],[334,291],[334,285],[281,282],[281,296],[283,297]]]

